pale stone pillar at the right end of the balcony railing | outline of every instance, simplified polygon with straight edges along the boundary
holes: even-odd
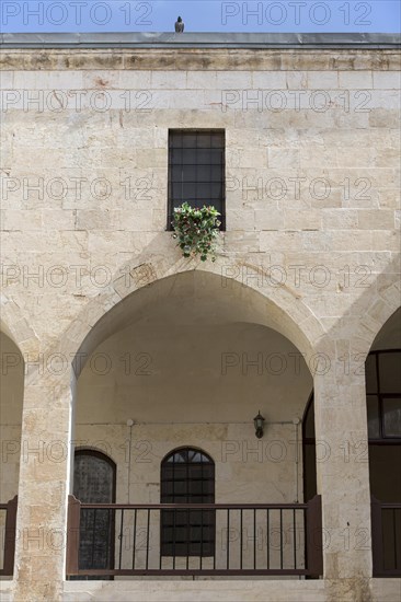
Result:
[[[322,373],[314,379],[314,412],[328,601],[369,602],[371,537],[364,358],[351,350],[348,340],[333,340],[318,370]],[[359,361],[353,361],[356,358]]]

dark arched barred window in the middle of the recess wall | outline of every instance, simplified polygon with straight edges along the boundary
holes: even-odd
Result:
[[[180,448],[161,463],[161,503],[215,503],[215,463],[204,451]],[[213,556],[215,510],[161,513],[162,556]]]

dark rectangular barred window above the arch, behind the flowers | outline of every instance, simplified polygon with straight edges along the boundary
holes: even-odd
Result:
[[[174,207],[213,205],[225,229],[225,130],[171,129],[169,131],[168,229]]]

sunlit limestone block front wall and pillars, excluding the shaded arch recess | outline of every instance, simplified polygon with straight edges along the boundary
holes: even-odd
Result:
[[[2,331],[27,366],[22,438],[69,448],[66,362],[130,293],[193,269],[220,291],[234,281],[256,324],[308,366],[329,358],[311,370],[317,437],[332,450],[318,466],[324,597],[379,600],[370,549],[342,537],[347,523],[369,533],[367,466],[341,450],[366,442],[359,367],[400,304],[399,54],[8,50],[1,63]],[[165,232],[168,130],[186,127],[226,130],[227,231],[213,265],[183,259]],[[35,458],[20,471],[19,601],[64,588],[65,548],[34,534],[65,525],[70,462]]]

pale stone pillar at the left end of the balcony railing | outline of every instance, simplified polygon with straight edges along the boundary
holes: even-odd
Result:
[[[57,602],[66,556],[69,373],[26,379],[22,416],[14,600]]]

